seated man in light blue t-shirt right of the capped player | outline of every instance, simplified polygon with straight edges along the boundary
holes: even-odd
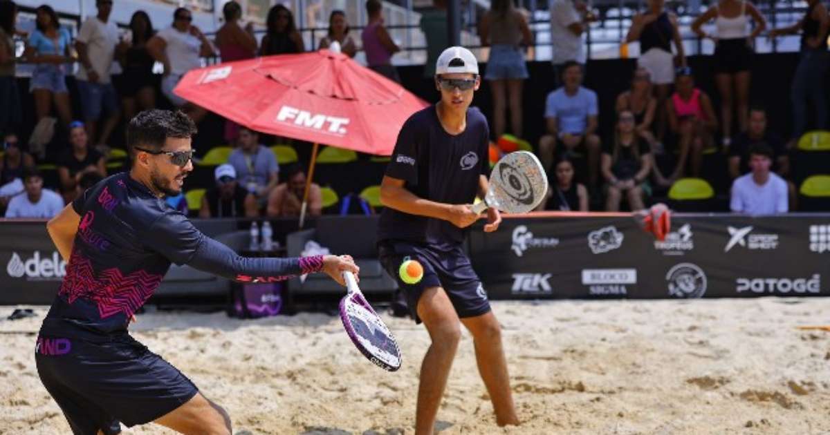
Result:
[[[599,172],[599,137],[597,131],[597,94],[582,87],[582,66],[574,61],[563,66],[564,86],[548,94],[544,118],[548,134],[539,142],[545,172],[556,155],[558,143],[565,152],[582,147],[588,152],[588,180],[597,186]]]

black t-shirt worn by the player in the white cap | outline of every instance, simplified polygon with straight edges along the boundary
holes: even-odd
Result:
[[[386,175],[406,181],[415,196],[445,204],[472,204],[479,176],[487,175],[487,120],[476,108],[467,109],[466,128],[452,136],[438,119],[436,106],[419,110],[403,123]],[[398,239],[427,244],[459,244],[467,230],[447,220],[383,209],[378,240]]]

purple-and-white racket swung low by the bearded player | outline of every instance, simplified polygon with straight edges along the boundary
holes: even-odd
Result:
[[[383,370],[401,368],[401,350],[389,328],[374,312],[358,287],[354,273],[344,272],[348,293],[340,299],[340,320],[354,346]]]

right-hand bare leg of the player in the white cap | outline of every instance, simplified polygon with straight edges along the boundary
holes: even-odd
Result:
[[[481,316],[462,318],[461,323],[470,330],[476,346],[478,371],[493,402],[496,423],[499,426],[519,424],[510,393],[510,375],[507,373],[499,321],[493,312],[487,312]]]

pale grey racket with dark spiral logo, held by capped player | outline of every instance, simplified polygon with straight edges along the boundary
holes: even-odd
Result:
[[[516,151],[501,157],[493,167],[484,200],[473,205],[481,213],[495,208],[506,213],[527,213],[548,194],[548,177],[532,152]]]

